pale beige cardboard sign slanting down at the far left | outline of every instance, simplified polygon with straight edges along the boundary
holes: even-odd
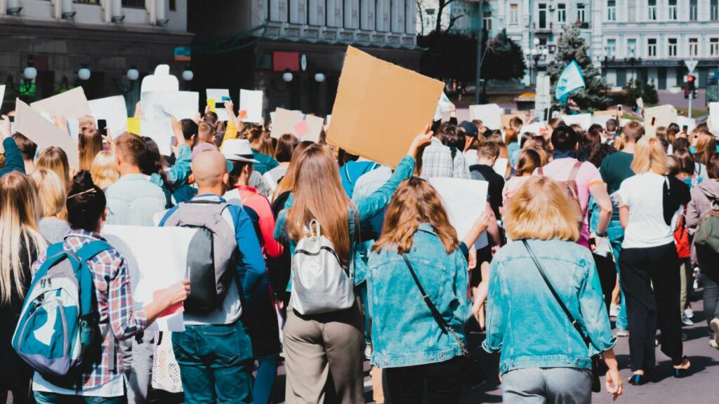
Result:
[[[32,106],[22,102],[20,98],[15,101],[15,130],[35,142],[40,149],[50,146],[60,147],[68,155],[70,168],[78,168],[80,164],[78,142],[43,118],[40,112],[32,109]]]

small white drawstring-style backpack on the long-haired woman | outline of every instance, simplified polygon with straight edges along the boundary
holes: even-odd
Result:
[[[354,304],[352,254],[345,271],[332,242],[321,234],[316,220],[309,236],[303,237],[292,257],[290,306],[303,315],[330,313]]]

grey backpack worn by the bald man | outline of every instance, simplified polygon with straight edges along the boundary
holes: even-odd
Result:
[[[191,292],[184,303],[188,312],[219,308],[237,273],[237,239],[222,217],[229,206],[219,201],[188,201],[165,220],[165,226],[197,229],[187,254]]]

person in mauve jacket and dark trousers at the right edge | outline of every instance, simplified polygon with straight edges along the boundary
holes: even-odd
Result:
[[[694,234],[707,214],[718,210],[719,201],[719,155],[714,154],[707,161],[707,180],[691,190],[692,200],[687,206],[687,226]],[[704,286],[704,316],[710,328],[710,346],[719,349],[719,270],[717,257],[711,250],[697,247],[696,261],[699,264]]]

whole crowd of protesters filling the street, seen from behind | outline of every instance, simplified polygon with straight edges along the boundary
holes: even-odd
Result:
[[[522,133],[519,118],[491,130],[452,114],[387,167],[324,133],[317,143],[272,136],[271,122],[244,123],[225,106],[229,121],[173,119],[170,156],[88,116],[78,162],[38,150],[3,116],[0,403],[8,393],[14,403],[147,403],[162,335],[144,331],[183,302],[185,331],[170,339],[186,403],[276,402],[282,361],[286,402],[363,403],[365,359],[378,403],[459,403],[487,377],[467,338],[477,327],[482,349],[498,353],[506,403],[590,403],[599,372],[616,398],[625,382],[652,380],[656,344],[675,377],[690,375],[682,323],[692,323],[695,280],[718,347],[718,252],[692,242],[719,211],[706,124],[648,137],[636,121],[584,130],[555,118]],[[467,234],[431,178],[488,183]],[[133,310],[126,257],[104,224],[209,232],[209,245],[188,251],[209,271],[209,292],[191,268]],[[74,279],[61,267],[73,259],[78,279],[91,274],[89,292],[51,286]],[[68,300],[72,288],[90,293],[92,309]],[[65,323],[51,323],[56,311]],[[37,357],[74,354],[66,316],[96,338],[78,331],[83,354],[63,374],[59,359]],[[627,336],[623,380],[613,347]]]

